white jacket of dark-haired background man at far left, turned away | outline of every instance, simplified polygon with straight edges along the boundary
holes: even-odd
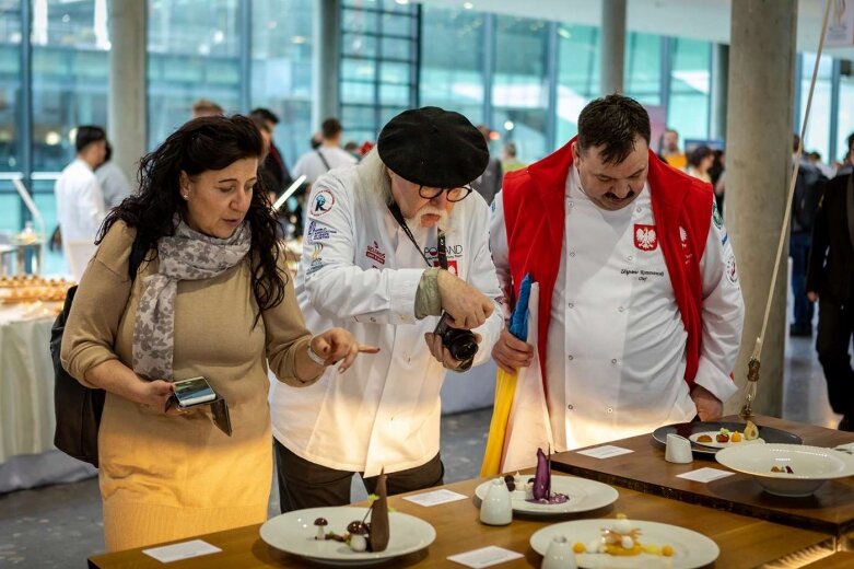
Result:
[[[62,239],[94,242],[106,213],[101,185],[89,164],[75,159],[66,166],[57,178],[55,193]]]

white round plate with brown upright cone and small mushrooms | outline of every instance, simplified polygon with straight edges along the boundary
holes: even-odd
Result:
[[[390,512],[388,514],[389,541],[384,551],[356,553],[346,543],[315,539],[316,519],[326,518],[329,522],[326,531],[342,535],[350,522],[361,521],[364,518],[366,510],[366,508],[350,507],[309,508],[283,513],[267,520],[261,525],[261,539],[277,549],[311,558],[320,564],[356,566],[381,564],[394,557],[418,551],[436,538],[436,531],[425,521],[414,515]]]

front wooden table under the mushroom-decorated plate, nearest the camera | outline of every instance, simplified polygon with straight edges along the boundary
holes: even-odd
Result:
[[[467,480],[444,486],[448,490],[473,497],[475,488],[482,479]],[[512,524],[492,527],[478,520],[478,508],[472,499],[459,500],[432,508],[424,508],[396,496],[389,499],[398,512],[417,515],[430,522],[436,530],[436,541],[426,549],[391,560],[387,566],[423,568],[461,567],[452,564],[447,557],[488,545],[498,545],[519,551],[525,557],[501,567],[539,567],[541,557],[529,546],[530,535],[557,521],[584,518],[613,518],[618,512],[630,519],[677,524],[703,533],[721,547],[721,557],[714,567],[756,567],[780,559],[807,547],[831,547],[831,539],[819,532],[799,530],[774,524],[754,518],[702,508],[656,496],[619,489],[620,497],[615,504],[586,514],[554,519],[515,519]],[[418,492],[413,492],[418,493]],[[222,553],[169,564],[174,569],[190,568],[271,568],[306,567],[302,558],[273,549],[259,537],[259,525],[202,535],[200,538],[220,548]],[[144,569],[162,568],[163,565],[140,553],[129,549],[114,554],[96,555],[89,559],[91,568]]]

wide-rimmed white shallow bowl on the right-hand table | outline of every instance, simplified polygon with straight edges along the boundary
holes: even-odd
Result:
[[[717,462],[749,474],[769,493],[802,498],[810,496],[833,478],[854,475],[854,456],[804,444],[751,444],[729,446],[715,454]],[[773,473],[772,466],[793,473]]]

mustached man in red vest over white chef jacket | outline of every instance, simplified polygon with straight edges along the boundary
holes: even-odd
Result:
[[[507,295],[527,274],[541,291],[538,346],[505,332],[493,357],[511,370],[537,350],[558,451],[721,417],[744,323],[733,246],[711,185],[650,151],[642,105],[588,104],[493,207]]]

